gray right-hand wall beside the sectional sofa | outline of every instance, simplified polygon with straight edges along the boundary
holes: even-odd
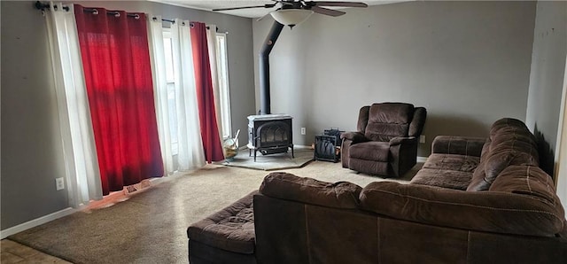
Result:
[[[553,174],[565,57],[567,2],[540,1],[533,32],[532,74],[526,124],[538,137],[541,166]]]

